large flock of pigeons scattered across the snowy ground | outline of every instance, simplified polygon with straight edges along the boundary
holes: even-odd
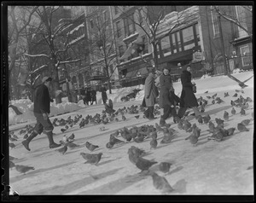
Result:
[[[241,93],[240,96],[238,96],[237,93]],[[207,91],[205,94],[207,95]],[[230,115],[235,115],[236,112],[239,112],[241,114],[241,117],[246,114],[246,111],[249,107],[248,103],[253,102],[253,100],[247,96],[247,98],[243,97],[242,94],[244,94],[243,90],[236,90],[236,94],[232,96],[233,98],[230,101],[230,105],[232,106],[232,109],[230,112],[224,111],[223,118],[211,118],[209,114],[203,115],[205,112],[205,107],[208,105],[208,102],[211,102],[212,105],[215,103],[221,103],[224,102],[218,94],[214,94],[212,96],[206,96],[206,98],[203,98],[200,96],[198,98],[199,103],[199,109],[202,113],[201,116],[199,116],[197,121],[192,125],[189,120],[193,119],[189,111],[187,111],[182,119],[177,120],[175,125],[177,125],[177,128],[181,131],[189,132],[190,135],[185,138],[185,140],[189,140],[189,142],[192,144],[192,146],[196,146],[199,137],[201,136],[201,129],[200,125],[208,125],[208,132],[210,136],[207,138],[209,140],[214,140],[217,142],[221,142],[225,139],[227,136],[233,136],[234,131],[236,131],[236,128],[231,127],[228,129],[224,128],[224,123],[229,122]],[[228,92],[224,93],[224,97],[230,96]],[[112,101],[111,101],[112,102]],[[61,133],[65,133],[65,131],[72,129],[74,126],[79,126],[79,128],[84,128],[85,125],[99,125],[104,124],[107,125],[111,122],[119,122],[121,120],[125,121],[125,113],[131,113],[131,114],[137,114],[139,112],[144,112],[146,110],[145,107],[138,107],[132,105],[131,107],[123,107],[119,108],[118,110],[113,109],[113,103],[108,103],[105,105],[105,110],[102,111],[102,114],[96,113],[95,116],[87,115],[83,118],[82,115],[75,115],[72,119],[71,116],[69,116],[67,119],[54,119],[53,125],[54,126],[61,126]],[[154,114],[160,114],[160,108],[158,105],[155,106]],[[120,119],[119,119],[120,116]],[[135,119],[139,119],[140,115],[135,115]],[[241,122],[237,124],[237,131],[243,132],[243,131],[249,131],[247,129],[247,125],[253,120],[253,113],[251,119],[241,119]],[[216,124],[214,124],[214,121]],[[32,125],[26,125],[25,129],[22,129],[19,134],[24,135],[23,138],[26,139],[27,135],[32,132]],[[100,127],[100,131],[105,131],[105,127]],[[109,142],[106,144],[106,148],[111,150],[113,146],[115,145],[123,145],[130,142],[137,142],[141,143],[145,140],[150,139],[149,147],[151,149],[157,149],[158,147],[158,139],[157,137],[162,134],[162,138],[160,141],[160,144],[169,144],[172,142],[173,139],[177,137],[177,131],[174,130],[171,127],[171,124],[166,124],[165,126],[160,126],[157,123],[155,125],[142,125],[142,126],[136,126],[133,125],[131,128],[123,127],[120,128],[117,131],[114,131],[109,135]],[[119,137],[122,137],[122,140],[119,139]],[[9,147],[15,148],[15,144],[13,142],[16,142],[19,139],[18,136],[15,135],[14,132],[10,132],[9,134]],[[61,148],[55,149],[56,152],[64,155],[67,152],[67,149],[73,149],[73,148],[81,148],[85,147],[87,148],[90,153],[80,153],[83,159],[85,159],[84,164],[90,164],[90,165],[97,165],[101,159],[102,159],[102,152],[98,154],[91,154],[94,152],[96,148],[99,148],[98,145],[95,145],[89,141],[86,141],[84,145],[79,145],[74,143],[75,141],[75,135],[72,133],[71,136],[64,135],[62,137]],[[154,160],[148,160],[144,159],[143,156],[147,154],[143,148],[137,148],[135,146],[131,146],[131,148],[128,149],[128,159],[131,161],[132,165],[135,165],[137,169],[141,170],[141,172],[146,171],[147,175],[149,174],[153,178],[153,184],[154,188],[159,189],[162,194],[169,194],[172,193],[174,190],[171,185],[167,182],[165,177],[161,177],[154,171],[150,171],[150,167],[152,165],[157,164],[157,161]],[[26,174],[27,171],[34,170],[34,167],[27,166],[27,165],[15,165],[15,159],[14,157],[9,157],[9,167],[15,168],[16,171],[19,171],[20,173]],[[167,173],[170,171],[171,163],[168,162],[160,162],[158,165],[158,168],[163,173]]]

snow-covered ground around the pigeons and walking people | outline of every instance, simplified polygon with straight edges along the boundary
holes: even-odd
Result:
[[[234,73],[233,76],[241,81],[251,77],[253,72]],[[250,96],[253,99],[253,80],[247,81],[248,87],[244,93],[238,92],[238,97]],[[236,90],[241,90],[240,86],[227,76],[218,76],[211,78],[201,78],[195,80],[197,86],[198,98],[202,96],[208,101],[206,111],[203,113],[211,116],[212,122],[216,125],[215,118],[223,119],[224,110],[230,113],[231,100]],[[180,95],[180,82],[174,83],[174,89],[177,95]],[[120,102],[122,96],[130,93],[131,90],[139,88],[137,97],[129,102]],[[207,93],[205,93],[208,91]],[[230,96],[224,97],[224,92],[229,92]],[[207,96],[217,95],[224,100],[222,103],[212,104],[212,99]],[[143,85],[119,90],[113,90],[113,94],[108,98],[113,100],[113,108],[131,107],[131,105],[140,105],[143,100]],[[80,101],[78,104],[62,102],[55,105],[51,103],[51,120],[67,119],[76,115],[85,117],[90,114],[102,113],[104,107],[101,101],[101,95],[97,93],[98,104],[84,106]],[[254,102],[254,101],[253,101]],[[193,146],[189,140],[185,140],[190,134],[177,128],[173,124],[172,118],[166,122],[177,131],[177,137],[169,144],[160,144],[163,137],[162,132],[158,132],[158,146],[150,149],[149,142],[146,139],[141,143],[134,141],[117,144],[111,149],[106,148],[109,141],[109,135],[123,127],[137,125],[154,125],[159,123],[158,119],[143,119],[143,113],[139,119],[135,118],[137,114],[125,113],[126,120],[122,121],[118,115],[119,122],[110,122],[107,125],[85,125],[79,128],[79,125],[73,125],[65,133],[61,132],[61,126],[54,129],[55,142],[59,142],[63,135],[75,135],[74,143],[79,144],[80,148],[73,150],[67,149],[67,153],[62,155],[49,149],[47,136],[41,134],[34,138],[30,143],[31,151],[26,151],[21,145],[24,134],[19,134],[20,128],[27,124],[34,124],[32,115],[32,103],[28,101],[13,102],[23,113],[16,116],[9,109],[9,131],[15,131],[19,137],[15,141],[15,148],[9,148],[9,155],[14,156],[14,162],[17,165],[30,165],[35,168],[34,171],[28,171],[26,175],[20,174],[13,168],[9,171],[9,183],[18,194],[161,194],[154,188],[152,177],[139,174],[140,170],[136,165],[131,164],[128,159],[128,148],[136,146],[143,148],[147,154],[144,159],[154,159],[158,164],[153,165],[150,171],[155,171],[158,175],[166,177],[174,191],[172,194],[253,194],[253,124],[252,119],[253,102],[249,102],[246,115],[241,116],[240,108],[235,107],[236,114],[231,115],[228,121],[224,121],[224,128],[235,127],[234,136],[227,137],[222,142],[208,140],[211,136],[207,130],[208,125],[200,125],[197,120],[189,117],[191,124],[196,124],[201,129],[201,136],[196,146]],[[191,111],[191,109],[189,109]],[[67,113],[69,112],[69,113]],[[65,113],[65,114],[61,114]],[[57,115],[61,114],[61,115]],[[55,116],[57,115],[57,116]],[[239,132],[237,123],[243,119],[252,119],[247,125],[249,131]],[[24,122],[24,123],[21,123]],[[104,126],[106,131],[100,131]],[[120,140],[124,140],[118,136]],[[93,153],[84,147],[84,143],[89,141],[99,146]],[[84,164],[81,152],[97,154],[102,153],[102,159],[98,165]],[[159,164],[162,161],[172,163],[171,169],[167,174],[159,171]]]

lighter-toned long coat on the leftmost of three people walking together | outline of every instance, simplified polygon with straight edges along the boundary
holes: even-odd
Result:
[[[145,96],[146,106],[147,107],[153,107],[155,102],[156,102],[156,97],[157,97],[157,92],[156,92],[156,86],[154,84],[154,74],[153,73],[148,73],[148,77],[145,80],[144,96]]]

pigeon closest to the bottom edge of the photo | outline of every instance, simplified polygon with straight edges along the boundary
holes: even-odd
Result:
[[[152,172],[151,177],[153,179],[154,188],[159,189],[162,194],[170,194],[174,190],[170,183],[166,180],[166,177],[160,177],[157,173]]]

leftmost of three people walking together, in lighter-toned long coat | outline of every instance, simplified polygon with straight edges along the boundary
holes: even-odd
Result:
[[[145,80],[145,103],[148,107],[148,119],[156,119],[154,117],[154,104],[156,103],[156,97],[158,96],[157,87],[154,84],[154,68],[148,68],[148,77]],[[147,117],[147,116],[146,116]]]

